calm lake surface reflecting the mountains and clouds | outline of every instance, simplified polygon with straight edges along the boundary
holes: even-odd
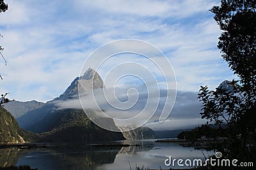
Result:
[[[195,150],[194,147],[180,146],[179,143],[156,143],[154,140],[118,141],[115,144],[132,146],[104,145],[58,145],[55,148],[0,150],[0,167],[29,165],[39,170],[90,169],[90,170],[129,170],[138,167],[150,169],[170,169],[164,160],[204,159],[213,155],[212,151]],[[172,167],[172,166],[171,166]],[[173,168],[173,167],[172,167]],[[175,168],[181,168],[176,166]],[[184,168],[184,167],[183,167]],[[188,167],[187,167],[188,168]]]

